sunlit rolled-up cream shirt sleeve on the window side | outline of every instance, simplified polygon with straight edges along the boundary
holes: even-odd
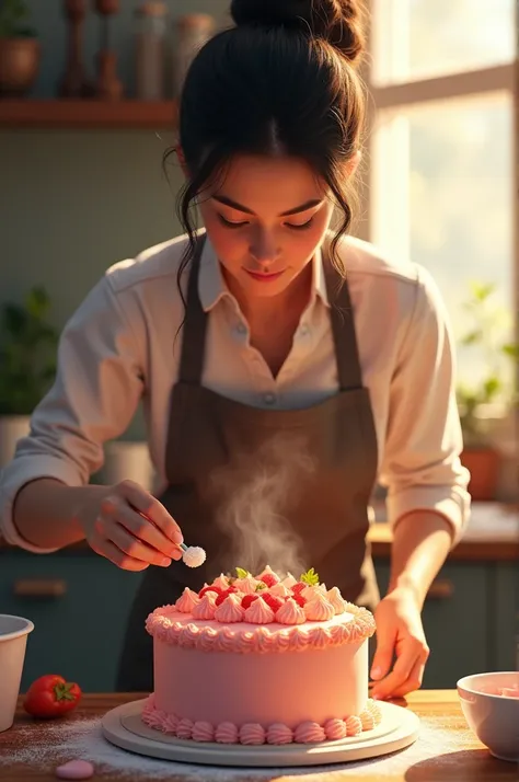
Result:
[[[422,267],[415,297],[391,383],[380,483],[391,526],[410,511],[435,511],[451,525],[454,545],[471,505],[470,474],[460,460],[455,348],[436,283]]]

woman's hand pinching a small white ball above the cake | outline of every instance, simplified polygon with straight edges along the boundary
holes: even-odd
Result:
[[[91,549],[125,571],[168,567],[172,560],[182,559],[178,525],[132,481],[92,493],[77,509],[77,520]]]

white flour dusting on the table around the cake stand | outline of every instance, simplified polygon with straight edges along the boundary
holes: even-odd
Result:
[[[145,780],[182,779],[183,782],[268,782],[276,778],[304,777],[304,782],[319,782],[319,773],[326,771],[327,780],[345,779],[348,772],[362,774],[402,774],[411,766],[423,761],[447,767],[448,752],[460,752],[473,741],[469,728],[459,729],[459,717],[428,717],[420,721],[420,734],[415,744],[391,755],[337,766],[307,767],[298,769],[240,769],[212,766],[192,766],[173,761],[155,760],[119,749],[109,744],[101,732],[101,718],[74,720],[45,726],[38,735],[34,726],[18,731],[26,746],[9,757],[0,752],[0,778],[2,763],[20,763],[32,769],[54,771],[55,767],[74,758],[90,760],[99,774],[103,770],[117,770],[122,778],[132,780],[142,774]],[[452,726],[457,729],[450,731]],[[480,750],[481,751],[481,750]],[[454,761],[452,761],[454,762]]]

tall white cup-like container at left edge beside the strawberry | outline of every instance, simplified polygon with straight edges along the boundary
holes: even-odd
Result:
[[[27,635],[33,630],[30,619],[0,613],[0,733],[14,722]]]

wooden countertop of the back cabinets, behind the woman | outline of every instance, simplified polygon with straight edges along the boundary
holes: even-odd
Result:
[[[391,530],[385,522],[382,505],[376,507],[377,522],[371,525],[368,540],[374,557],[385,559],[391,553]],[[0,555],[13,551],[0,536]],[[69,545],[59,552],[61,556],[91,552],[85,541]],[[519,561],[519,505],[475,503],[469,526],[450,561]]]

